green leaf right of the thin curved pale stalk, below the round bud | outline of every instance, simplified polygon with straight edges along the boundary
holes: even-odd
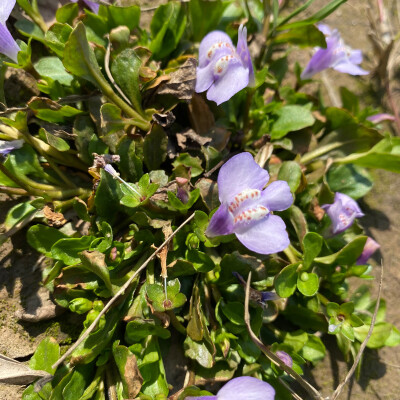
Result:
[[[139,88],[141,65],[142,60],[137,56],[135,50],[130,48],[119,53],[111,65],[111,73],[115,82],[139,112],[142,110]]]

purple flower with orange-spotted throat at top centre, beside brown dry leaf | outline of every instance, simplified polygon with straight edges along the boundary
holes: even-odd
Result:
[[[225,32],[206,35],[199,48],[196,92],[207,90],[207,99],[219,105],[249,85],[254,85],[254,70],[247,29],[240,25],[236,49]]]

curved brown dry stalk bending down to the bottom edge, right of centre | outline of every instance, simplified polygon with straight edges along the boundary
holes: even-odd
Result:
[[[251,340],[254,344],[279,368],[285,371],[289,376],[295,379],[311,396],[312,399],[324,400],[321,394],[318,392],[314,386],[310,385],[306,380],[304,380],[297,372],[292,368],[287,366],[275,353],[273,353],[260,339],[254,334],[250,325],[250,313],[249,313],[249,298],[250,298],[250,282],[251,282],[251,272],[247,279],[246,285],[246,297],[244,302],[244,320],[246,322],[247,330],[249,332]]]

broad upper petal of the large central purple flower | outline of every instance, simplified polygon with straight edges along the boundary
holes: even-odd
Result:
[[[268,182],[268,171],[261,168],[250,153],[230,158],[218,174],[218,192],[221,203],[228,204],[245,189],[261,190]]]

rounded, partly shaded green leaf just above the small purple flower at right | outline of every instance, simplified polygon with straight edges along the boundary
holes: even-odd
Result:
[[[333,192],[347,194],[353,199],[364,197],[373,186],[369,172],[358,165],[333,165],[327,174],[327,181]]]

